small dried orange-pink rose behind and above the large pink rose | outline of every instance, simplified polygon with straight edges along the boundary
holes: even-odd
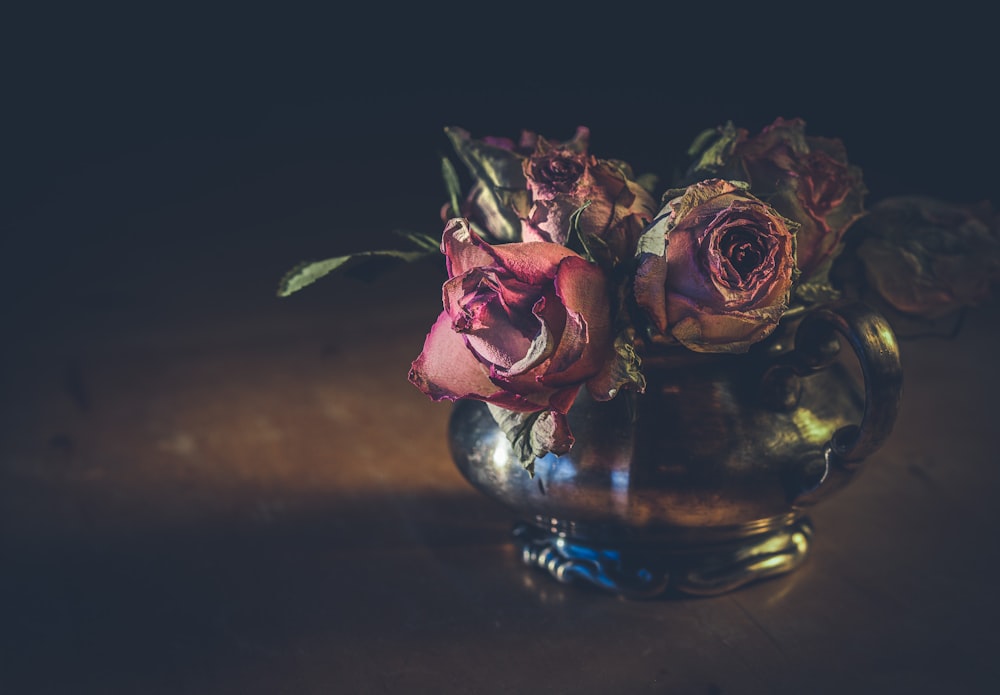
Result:
[[[621,162],[587,154],[587,139],[552,145],[538,138],[524,160],[530,208],[519,210],[524,241],[565,244],[573,217],[585,242],[596,240],[595,255],[611,264],[635,254],[656,204]]]

